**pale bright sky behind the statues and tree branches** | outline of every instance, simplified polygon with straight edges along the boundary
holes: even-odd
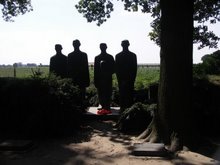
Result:
[[[0,18],[0,64],[47,65],[56,54],[55,44],[61,44],[63,54],[68,55],[74,50],[72,41],[75,39],[80,40],[80,49],[87,53],[89,62],[94,62],[95,56],[100,54],[100,43],[106,43],[107,52],[115,57],[122,50],[121,41],[128,39],[129,49],[137,55],[138,63],[160,63],[160,48],[148,36],[152,30],[150,14],[124,11],[122,3],[115,0],[111,18],[97,26],[78,13],[75,8],[78,1],[32,0],[32,12],[19,15],[14,22]],[[220,36],[220,23],[209,28]],[[220,48],[220,43],[218,46]],[[197,50],[195,45],[193,62],[201,62],[203,55],[216,50]]]

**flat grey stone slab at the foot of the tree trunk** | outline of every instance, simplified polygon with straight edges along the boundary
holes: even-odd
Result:
[[[163,143],[135,143],[131,152],[135,156],[167,156]]]

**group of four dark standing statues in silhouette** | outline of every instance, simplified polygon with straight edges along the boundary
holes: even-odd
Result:
[[[62,54],[62,46],[55,45],[56,55],[50,59],[50,73],[61,78],[71,78],[80,89],[82,99],[85,99],[86,87],[90,84],[87,54],[80,50],[80,41],[74,40],[74,51],[68,56]],[[98,92],[99,103],[97,114],[111,113],[112,75],[116,73],[119,86],[120,110],[133,104],[134,82],[137,74],[136,54],[129,51],[130,43],[123,40],[123,50],[115,56],[107,53],[107,45],[100,44],[101,53],[94,60],[94,85]]]

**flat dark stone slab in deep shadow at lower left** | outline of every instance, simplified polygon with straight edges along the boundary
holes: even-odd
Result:
[[[31,140],[3,140],[0,142],[0,151],[26,151],[33,147]]]

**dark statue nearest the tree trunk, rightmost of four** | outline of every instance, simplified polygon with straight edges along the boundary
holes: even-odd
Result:
[[[121,111],[133,104],[134,83],[137,75],[137,57],[129,51],[129,45],[128,40],[123,40],[121,42],[123,50],[115,57]]]

